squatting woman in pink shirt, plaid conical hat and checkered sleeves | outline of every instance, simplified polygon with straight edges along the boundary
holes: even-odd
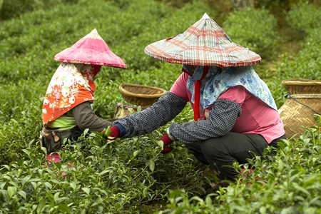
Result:
[[[111,136],[130,138],[164,126],[190,102],[194,120],[171,123],[162,153],[173,141],[185,143],[195,157],[209,164],[221,180],[238,172],[225,165],[246,163],[285,137],[269,88],[251,66],[261,58],[233,43],[205,14],[183,34],[146,46],[146,54],[183,64],[183,73],[169,92],[144,111],[118,119]]]

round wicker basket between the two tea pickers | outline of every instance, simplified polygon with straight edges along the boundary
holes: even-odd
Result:
[[[166,91],[162,88],[123,84],[119,86],[123,101],[136,106],[152,106]]]

